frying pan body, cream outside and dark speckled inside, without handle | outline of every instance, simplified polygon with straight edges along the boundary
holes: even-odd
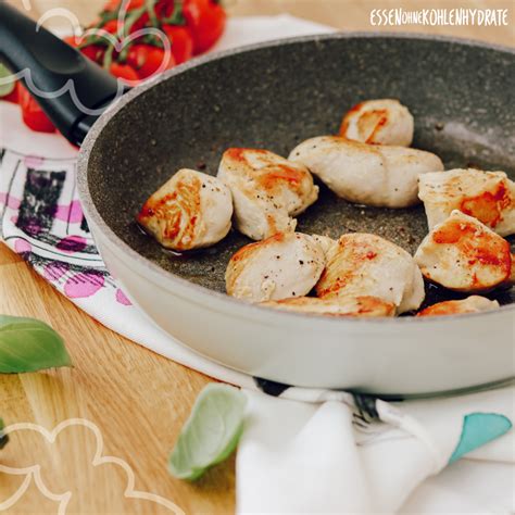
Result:
[[[106,266],[150,318],[226,366],[289,385],[381,394],[512,378],[513,289],[493,294],[503,304],[497,311],[426,319],[274,311],[225,294],[226,264],[247,238],[231,231],[211,249],[177,255],[139,230],[135,215],[180,167],[215,175],[228,147],[287,155],[303,139],[335,134],[342,113],[370,98],[407,105],[416,123],[413,146],[437,153],[448,168],[503,169],[513,179],[514,71],[512,49],[365,33],[293,38],[194,60],[127,92],[87,134],[78,188],[89,227]],[[41,104],[59,118],[48,102]],[[74,140],[73,130],[63,131]],[[413,253],[427,226],[422,206],[364,208],[322,187],[298,230],[375,233]],[[450,298],[431,286],[427,293],[426,303]]]

